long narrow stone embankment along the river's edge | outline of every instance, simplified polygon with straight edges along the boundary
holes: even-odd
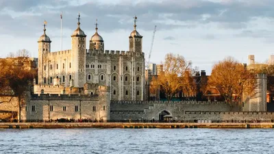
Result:
[[[123,129],[249,129],[274,128],[274,123],[0,123],[0,129],[68,129],[68,128],[123,128]]]

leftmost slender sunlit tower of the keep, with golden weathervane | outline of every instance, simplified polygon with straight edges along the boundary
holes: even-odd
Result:
[[[51,39],[46,34],[46,25],[44,21],[44,34],[38,40],[38,84],[49,84],[47,54],[51,52]]]

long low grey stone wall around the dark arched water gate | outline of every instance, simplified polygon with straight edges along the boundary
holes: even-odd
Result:
[[[161,112],[180,118],[186,111],[199,112],[229,112],[231,106],[225,102],[197,102],[197,101],[112,101],[110,103],[111,120],[159,120]],[[232,107],[232,111],[239,112],[240,107]]]

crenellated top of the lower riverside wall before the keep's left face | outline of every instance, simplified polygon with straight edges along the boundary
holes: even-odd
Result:
[[[32,94],[31,100],[98,101],[98,94]]]

